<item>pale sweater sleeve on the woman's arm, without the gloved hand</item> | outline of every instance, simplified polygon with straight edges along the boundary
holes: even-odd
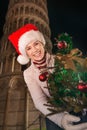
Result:
[[[38,83],[34,78],[27,79],[25,72],[24,72],[24,79],[36,109],[38,109],[41,113],[43,113],[46,116],[47,114],[50,113],[50,111],[48,110],[48,106],[44,105],[47,104],[46,95],[44,94],[43,90],[41,89],[41,87],[38,85]],[[59,113],[48,116],[48,118],[61,127],[61,119],[63,115],[64,113]]]

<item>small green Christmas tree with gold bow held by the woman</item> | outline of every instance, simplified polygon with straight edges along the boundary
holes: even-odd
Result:
[[[78,48],[73,49],[72,37],[67,33],[56,38],[56,45],[55,70],[47,80],[51,95],[48,103],[54,106],[50,110],[80,112],[87,108],[87,57]]]

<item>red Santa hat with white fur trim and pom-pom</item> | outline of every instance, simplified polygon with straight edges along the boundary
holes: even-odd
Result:
[[[26,24],[17,31],[9,35],[8,39],[15,47],[19,56],[17,61],[21,65],[25,65],[29,62],[29,57],[26,55],[25,47],[32,41],[40,41],[45,45],[45,39],[43,34],[33,24]]]

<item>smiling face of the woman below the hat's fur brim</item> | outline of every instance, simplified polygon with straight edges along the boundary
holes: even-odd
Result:
[[[40,41],[29,43],[26,48],[26,54],[32,61],[42,60],[45,55],[45,49]]]

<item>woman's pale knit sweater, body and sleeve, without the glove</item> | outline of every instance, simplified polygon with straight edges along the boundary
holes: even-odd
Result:
[[[48,67],[54,66],[54,56],[47,54],[46,59]],[[31,94],[36,109],[38,109],[46,116],[50,113],[50,111],[47,109],[48,106],[44,104],[47,104],[47,97],[49,97],[50,94],[48,89],[46,88],[46,81],[42,82],[39,80],[40,70],[36,68],[33,63],[31,63],[31,66],[29,66],[23,74],[24,80],[27,84],[28,90]],[[48,118],[61,127],[61,119],[63,115],[64,113],[58,113],[48,116]]]

